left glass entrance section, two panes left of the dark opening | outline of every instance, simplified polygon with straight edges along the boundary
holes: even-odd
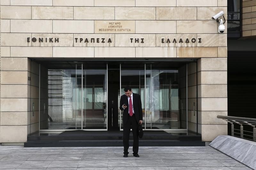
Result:
[[[73,129],[107,129],[107,64],[40,65],[40,130]]]

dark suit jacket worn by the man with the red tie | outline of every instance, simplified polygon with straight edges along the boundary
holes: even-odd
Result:
[[[140,95],[137,93],[132,93],[132,98],[133,98],[132,100],[133,100],[134,114],[135,114],[137,123],[139,124],[139,121],[143,119]],[[127,107],[125,109],[122,107],[123,104],[127,105]],[[124,110],[124,114],[123,114],[124,124],[127,122],[127,119],[129,116],[128,109],[129,109],[128,97],[124,94],[121,96],[121,99],[120,99],[120,110]]]

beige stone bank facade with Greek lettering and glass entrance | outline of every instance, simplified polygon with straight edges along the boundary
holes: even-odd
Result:
[[[0,143],[122,130],[130,85],[145,130],[227,134],[227,0],[1,0]],[[224,23],[227,28],[227,22]]]

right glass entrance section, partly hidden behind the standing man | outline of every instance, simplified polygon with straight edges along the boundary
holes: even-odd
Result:
[[[169,63],[120,64],[120,96],[124,87],[141,96],[144,123],[150,130],[187,129],[186,64],[171,67]],[[120,105],[120,103],[119,103]],[[123,111],[119,111],[120,117]],[[120,119],[120,129],[123,122]]]

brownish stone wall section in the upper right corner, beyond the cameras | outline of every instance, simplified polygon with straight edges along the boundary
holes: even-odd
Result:
[[[242,36],[254,36],[256,35],[256,1],[243,0],[242,7]]]

